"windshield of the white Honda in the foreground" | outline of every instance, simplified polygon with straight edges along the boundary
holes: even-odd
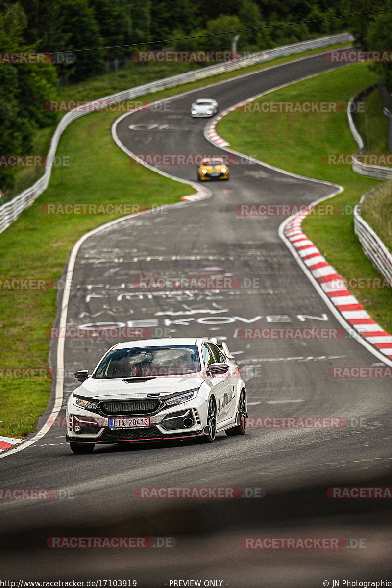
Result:
[[[92,377],[182,376],[200,372],[195,346],[116,349],[100,362]]]

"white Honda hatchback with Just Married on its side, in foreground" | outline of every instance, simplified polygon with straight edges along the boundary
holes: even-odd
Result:
[[[225,342],[207,338],[118,343],[82,382],[66,407],[73,453],[96,443],[145,442],[216,433],[243,435],[246,387]]]

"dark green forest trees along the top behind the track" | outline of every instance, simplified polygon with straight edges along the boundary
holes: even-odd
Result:
[[[0,64],[0,155],[25,155],[36,129],[50,125],[42,103],[55,99],[59,75],[82,81],[103,71],[105,61],[132,57],[138,49],[230,49],[233,35],[202,35],[314,21],[243,32],[237,50],[260,51],[312,36],[350,30],[363,48],[392,49],[392,14],[320,21],[328,16],[366,11],[368,0],[0,0],[0,52],[81,51],[68,65]],[[391,6],[381,0],[377,8]],[[166,44],[140,45],[183,36],[198,38]],[[389,64],[374,66],[392,89]],[[12,183],[12,171],[0,167],[0,186]]]

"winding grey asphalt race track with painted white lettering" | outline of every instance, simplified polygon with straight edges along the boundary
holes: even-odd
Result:
[[[208,119],[190,117],[194,99],[214,98],[223,111],[333,67],[324,56],[314,56],[171,98],[165,110],[125,116],[118,139],[136,154],[220,153],[203,136]],[[159,169],[196,179],[196,166]],[[250,416],[342,417],[348,426],[254,428],[243,437],[219,435],[213,445],[103,445],[92,455],[73,455],[65,443],[62,410],[59,426],[0,459],[2,487],[62,489],[66,495],[1,501],[4,577],[136,579],[138,586],[169,586],[178,579],[201,579],[203,585],[207,579],[231,588],[388,579],[387,500],[327,497],[330,486],[390,486],[390,382],[328,375],[331,366],[373,366],[379,360],[348,336],[263,341],[239,336],[239,329],[256,326],[341,329],[279,238],[282,216],[246,218],[234,211],[241,203],[310,203],[329,195],[331,186],[246,161],[230,166],[230,172],[229,182],[207,184],[211,198],[126,218],[86,239],[76,258],[67,324],[140,327],[161,336],[225,336],[244,373]],[[135,280],[143,276],[227,276],[239,287],[138,288]],[[65,340],[63,406],[76,387],[73,372],[91,371],[116,342]],[[53,366],[55,358],[53,340]],[[135,496],[141,486],[262,488],[265,496],[149,500]],[[49,549],[47,537],[59,535],[173,537],[176,545]],[[240,539],[256,536],[343,537],[349,544],[365,539],[365,547],[240,547]]]

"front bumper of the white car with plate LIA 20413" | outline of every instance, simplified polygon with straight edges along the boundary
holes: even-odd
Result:
[[[106,416],[73,406],[67,410],[66,441],[72,443],[121,443],[183,439],[204,435],[207,403],[194,398],[180,405],[167,407],[150,417],[149,427],[110,427],[109,420],[140,417],[140,414]],[[76,428],[75,428],[76,426]]]

